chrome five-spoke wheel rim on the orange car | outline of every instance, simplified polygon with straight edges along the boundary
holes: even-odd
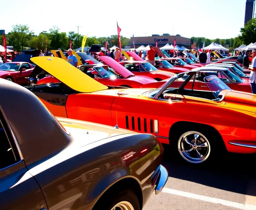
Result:
[[[203,134],[197,131],[189,131],[180,136],[178,150],[186,161],[201,163],[209,158],[210,143]]]

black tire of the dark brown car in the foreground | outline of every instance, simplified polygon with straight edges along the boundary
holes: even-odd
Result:
[[[108,192],[93,207],[93,210],[111,210],[119,202],[129,202],[134,210],[140,210],[138,198],[132,190],[122,190],[120,192]]]

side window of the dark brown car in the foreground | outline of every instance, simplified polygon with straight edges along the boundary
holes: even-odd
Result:
[[[17,158],[17,148],[12,142],[11,133],[0,111],[0,170],[20,161]]]

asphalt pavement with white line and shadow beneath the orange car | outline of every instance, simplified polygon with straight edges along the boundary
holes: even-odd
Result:
[[[256,155],[228,154],[201,167],[176,161],[164,148],[168,182],[143,210],[256,210]]]

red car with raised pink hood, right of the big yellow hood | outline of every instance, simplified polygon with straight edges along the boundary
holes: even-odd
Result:
[[[99,59],[108,65],[81,65],[79,69],[103,85],[140,88],[142,85],[147,83],[153,84],[157,82],[150,77],[135,76],[111,57],[101,56]],[[48,76],[42,78],[36,84],[39,85],[50,82],[59,81],[52,76]]]

